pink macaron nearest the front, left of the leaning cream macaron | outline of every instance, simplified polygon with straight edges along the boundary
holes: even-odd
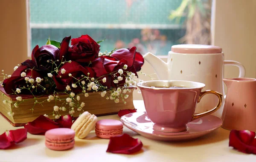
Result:
[[[75,145],[75,131],[69,128],[55,128],[45,133],[45,145],[51,150],[67,150]]]

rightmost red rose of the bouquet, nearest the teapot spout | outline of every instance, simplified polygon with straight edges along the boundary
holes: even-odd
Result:
[[[131,49],[119,49],[113,52],[111,55],[117,60],[125,59],[128,61],[128,69],[134,67],[135,71],[140,71],[141,67],[144,64],[144,58],[140,54],[140,52],[136,52],[136,47],[132,47]],[[131,70],[132,71],[132,70]]]

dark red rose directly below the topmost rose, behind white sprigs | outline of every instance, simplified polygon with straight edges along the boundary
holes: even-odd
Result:
[[[61,69],[65,69],[66,72],[61,74]],[[77,83],[77,79],[84,78],[81,75],[88,76],[87,73],[90,73],[89,77],[95,77],[95,72],[90,67],[82,67],[76,61],[72,61],[71,63],[65,63],[62,67],[59,68],[59,72],[56,75],[53,75],[53,80],[55,81],[56,88],[58,90],[65,90],[67,85],[73,90],[73,92],[81,92],[81,87]],[[69,76],[71,74],[72,76]],[[60,77],[61,76],[61,77]],[[76,78],[76,79],[75,79]],[[84,80],[86,83],[88,81]],[[72,84],[76,84],[78,87],[73,88]],[[81,83],[80,83],[81,84]]]

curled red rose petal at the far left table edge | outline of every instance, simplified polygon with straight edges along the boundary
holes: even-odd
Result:
[[[0,136],[0,149],[6,149],[27,138],[27,129],[7,130]]]

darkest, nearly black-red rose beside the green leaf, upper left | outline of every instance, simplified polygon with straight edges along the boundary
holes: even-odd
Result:
[[[57,61],[59,49],[53,45],[44,45],[39,48],[38,45],[32,50],[32,61],[35,62],[36,68],[42,71],[51,71],[52,63],[48,60]],[[60,61],[59,61],[60,62]],[[30,67],[33,68],[33,67]]]

